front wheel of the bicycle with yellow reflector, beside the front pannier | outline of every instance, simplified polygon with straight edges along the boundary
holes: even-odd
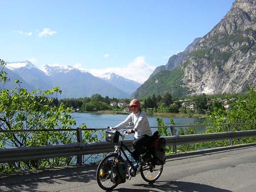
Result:
[[[118,184],[111,181],[111,167],[115,160],[118,158],[118,154],[110,154],[103,158],[98,164],[96,179],[98,186],[103,190],[113,190]]]

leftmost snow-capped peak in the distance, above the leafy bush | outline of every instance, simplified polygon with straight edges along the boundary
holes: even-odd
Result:
[[[29,61],[6,62],[6,67],[18,74],[35,89],[51,89],[52,80],[42,70]]]

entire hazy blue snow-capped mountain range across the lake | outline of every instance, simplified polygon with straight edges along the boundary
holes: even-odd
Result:
[[[46,64],[41,70],[29,61],[6,62],[5,70],[11,76],[12,82],[18,79],[22,82],[21,87],[28,90],[47,90],[59,86],[62,90],[62,94],[58,96],[59,99],[90,97],[94,94],[110,98],[129,98],[131,93],[139,87],[138,83],[114,73],[109,74],[108,79],[104,76],[103,80],[69,65]],[[9,82],[9,86],[10,84],[12,84],[11,88],[15,86],[14,83]]]

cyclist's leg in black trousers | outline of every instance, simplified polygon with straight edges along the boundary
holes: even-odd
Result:
[[[134,160],[138,160],[139,156],[144,153],[144,149],[150,143],[150,136],[142,135],[141,137],[133,140],[132,146],[134,151],[132,152],[132,156]]]

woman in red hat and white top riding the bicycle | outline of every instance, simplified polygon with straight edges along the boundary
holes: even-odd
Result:
[[[128,126],[128,123],[133,123],[133,131],[135,132],[135,134],[134,140],[132,142],[132,146],[134,149],[132,152],[132,156],[134,160],[138,160],[140,155],[144,153],[144,148],[150,144],[152,131],[149,125],[146,112],[141,110],[139,100],[131,100],[129,110],[132,111],[132,113],[128,115],[126,120],[115,127],[110,127],[110,129],[120,130],[122,128],[126,128]],[[131,133],[132,129],[129,129],[128,134]]]

